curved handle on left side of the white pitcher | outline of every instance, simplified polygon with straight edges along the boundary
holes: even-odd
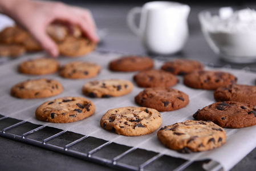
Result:
[[[135,23],[135,15],[141,14],[141,7],[133,7],[127,15],[127,25],[137,36],[140,35],[139,27]]]

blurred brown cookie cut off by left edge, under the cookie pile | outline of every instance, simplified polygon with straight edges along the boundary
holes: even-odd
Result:
[[[0,56],[18,57],[18,56],[24,55],[25,52],[26,52],[25,47],[21,45],[0,44]]]

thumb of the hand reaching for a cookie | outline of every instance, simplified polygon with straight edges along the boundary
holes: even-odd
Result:
[[[40,43],[44,50],[52,57],[59,56],[59,50],[57,44],[46,33],[45,29],[31,30],[31,35]]]

